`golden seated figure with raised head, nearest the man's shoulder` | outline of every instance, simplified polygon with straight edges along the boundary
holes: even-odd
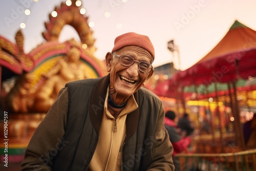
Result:
[[[86,64],[80,59],[81,51],[72,46],[63,59],[60,59],[50,72],[42,74],[44,83],[35,93],[35,103],[32,111],[47,112],[55,101],[58,92],[70,81],[90,78]],[[46,111],[47,109],[47,111]]]

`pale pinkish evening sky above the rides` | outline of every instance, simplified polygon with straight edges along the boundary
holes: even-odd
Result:
[[[30,52],[44,42],[41,33],[49,14],[55,6],[65,0],[0,0],[0,35],[15,42],[14,36],[19,24],[23,29],[25,52]],[[237,19],[240,23],[256,30],[256,0],[82,0],[82,8],[87,10],[88,22],[94,22],[91,30],[96,39],[95,56],[103,60],[112,50],[116,36],[126,32],[136,32],[150,37],[155,47],[157,67],[174,59],[176,68],[178,55],[173,56],[167,49],[167,42],[174,39],[179,47],[181,70],[193,66],[204,57],[227,33]],[[29,8],[31,14],[24,14]],[[110,17],[104,13],[109,12]],[[121,24],[121,28],[117,28]],[[64,27],[59,41],[77,38],[70,27]]]

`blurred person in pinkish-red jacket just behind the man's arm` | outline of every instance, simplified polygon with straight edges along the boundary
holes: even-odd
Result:
[[[175,171],[180,170],[179,158],[175,158],[175,155],[185,151],[189,144],[191,143],[191,138],[189,136],[184,137],[181,133],[180,128],[175,123],[175,113],[173,111],[167,111],[165,113],[164,125],[169,134],[170,142],[173,144],[173,161],[175,166]]]

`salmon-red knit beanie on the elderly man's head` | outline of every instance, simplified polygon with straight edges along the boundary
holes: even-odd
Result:
[[[115,39],[114,48],[112,53],[125,46],[138,46],[151,53],[153,60],[155,59],[155,50],[150,41],[150,38],[145,35],[137,34],[134,32],[122,34]]]

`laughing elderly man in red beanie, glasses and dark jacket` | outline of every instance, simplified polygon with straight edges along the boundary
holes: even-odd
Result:
[[[174,170],[164,108],[141,88],[154,72],[151,40],[115,39],[109,74],[66,84],[35,131],[22,170]]]

